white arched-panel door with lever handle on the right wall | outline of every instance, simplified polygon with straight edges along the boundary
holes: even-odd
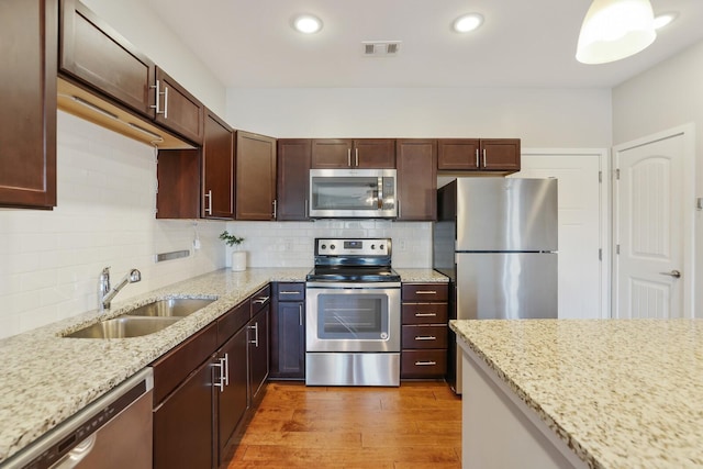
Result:
[[[615,317],[690,315],[685,200],[693,158],[687,138],[674,132],[616,147]]]

